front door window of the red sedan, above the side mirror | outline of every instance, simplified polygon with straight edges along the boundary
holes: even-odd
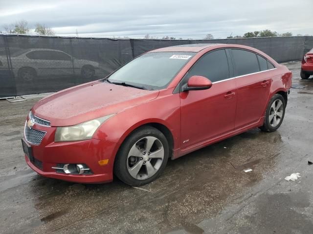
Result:
[[[229,68],[224,49],[203,55],[189,70],[185,82],[192,76],[203,76],[212,82],[229,78]]]

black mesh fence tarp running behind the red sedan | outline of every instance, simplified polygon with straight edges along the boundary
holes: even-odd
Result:
[[[302,59],[313,47],[313,37],[168,40],[0,35],[0,98],[59,91],[104,78],[146,51],[193,43],[248,45],[285,62]]]

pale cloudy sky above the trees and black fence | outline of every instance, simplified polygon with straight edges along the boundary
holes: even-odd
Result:
[[[313,35],[313,0],[0,0],[3,25],[27,20],[58,36],[203,39],[270,29]],[[311,18],[311,20],[310,20]]]

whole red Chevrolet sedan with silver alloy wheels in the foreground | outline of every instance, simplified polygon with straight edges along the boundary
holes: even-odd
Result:
[[[291,72],[234,44],[156,49],[107,78],[36,103],[22,145],[38,174],[147,184],[175,159],[256,127],[282,124]]]

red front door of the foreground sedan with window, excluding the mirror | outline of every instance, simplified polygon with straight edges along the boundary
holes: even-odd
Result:
[[[221,136],[234,128],[236,84],[232,79],[226,51],[219,49],[203,55],[181,81],[192,76],[209,78],[207,90],[180,92],[181,148]]]

